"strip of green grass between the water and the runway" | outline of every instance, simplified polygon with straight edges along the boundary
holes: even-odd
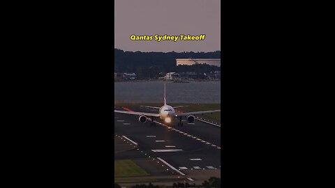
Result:
[[[124,106],[152,106],[152,107],[161,107],[163,106],[162,103],[116,103],[114,104],[117,107]],[[172,107],[177,107],[177,106],[189,106],[189,107],[184,107],[179,110],[187,112],[187,111],[207,111],[207,110],[215,110],[215,109],[221,109],[221,104],[181,104],[181,103],[169,103]],[[207,113],[202,115],[204,118],[210,118],[213,120],[217,120],[219,123],[221,123],[221,113]]]

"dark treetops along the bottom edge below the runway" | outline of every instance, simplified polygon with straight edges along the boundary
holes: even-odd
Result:
[[[209,180],[205,180],[202,185],[195,185],[195,184],[188,184],[187,182],[186,183],[181,183],[181,182],[178,182],[178,183],[174,183],[172,185],[173,188],[179,188],[179,187],[204,187],[204,188],[213,188],[213,187],[221,187],[221,179],[220,178],[215,178],[215,177],[211,177],[209,178]],[[121,188],[120,185],[114,183],[114,188]],[[161,188],[161,186],[158,186],[158,185],[152,185],[151,183],[149,183],[149,185],[144,185],[144,184],[141,184],[141,185],[134,185],[133,187],[131,188]]]

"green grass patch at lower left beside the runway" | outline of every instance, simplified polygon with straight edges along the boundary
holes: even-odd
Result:
[[[114,160],[114,178],[149,175],[132,160]]]

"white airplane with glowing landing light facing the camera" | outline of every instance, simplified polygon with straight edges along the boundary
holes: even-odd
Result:
[[[211,111],[191,111],[186,113],[176,113],[174,109],[179,109],[186,106],[179,106],[179,107],[171,107],[170,105],[166,104],[166,85],[164,84],[164,105],[163,107],[150,107],[150,106],[141,106],[141,107],[147,107],[150,109],[158,109],[158,113],[147,113],[147,112],[140,112],[140,111],[120,111],[120,110],[114,110],[115,113],[125,113],[125,114],[131,114],[131,115],[137,115],[140,116],[138,120],[140,123],[146,123],[147,122],[147,116],[150,117],[151,126],[156,126],[156,123],[154,123],[154,118],[161,118],[161,120],[164,120],[165,123],[172,123],[173,118],[179,118],[179,126],[183,126],[183,123],[181,122],[182,117],[186,117],[188,123],[193,123],[195,120],[195,115],[200,115],[204,113],[214,113],[214,112],[220,112],[221,109],[218,110],[211,110]]]

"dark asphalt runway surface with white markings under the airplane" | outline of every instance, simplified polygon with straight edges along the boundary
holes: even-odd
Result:
[[[156,109],[127,108],[133,111],[157,113]],[[159,119],[156,120],[163,123]],[[149,121],[140,123],[138,116],[114,113],[114,134],[134,146],[137,145],[137,150],[116,153],[115,159],[133,159],[149,155],[166,162],[181,174],[186,174],[189,170],[220,170],[221,127],[198,120],[193,123],[184,120],[183,123],[183,127],[178,127],[175,119],[172,125],[163,123],[150,127]]]

